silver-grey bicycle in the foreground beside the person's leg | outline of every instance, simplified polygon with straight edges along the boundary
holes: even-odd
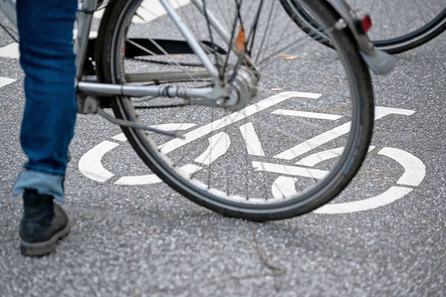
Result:
[[[153,173],[188,199],[255,221],[302,215],[348,185],[373,129],[368,66],[387,73],[394,64],[357,29],[343,1],[334,1],[337,9],[321,0],[266,2],[84,0],[75,38],[79,112],[121,125]],[[298,30],[287,17],[293,3],[312,12],[336,51],[316,50],[318,43]],[[93,18],[102,8],[102,18]],[[96,28],[98,38],[89,40]],[[305,75],[291,79],[289,63]],[[324,70],[305,72],[317,67]],[[323,95],[295,91],[314,86]],[[275,119],[264,116],[273,105],[280,107]],[[327,129],[333,123],[337,128]],[[287,149],[275,158],[288,164],[271,174],[262,158],[278,142]],[[293,162],[329,148],[336,158],[319,155],[319,169]],[[284,175],[300,177],[292,191],[281,188]]]

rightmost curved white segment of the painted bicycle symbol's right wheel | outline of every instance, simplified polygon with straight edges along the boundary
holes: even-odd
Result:
[[[378,153],[392,158],[403,166],[404,174],[397,181],[399,185],[416,187],[420,185],[424,176],[426,176],[426,166],[424,166],[423,162],[407,151],[398,148],[383,148]]]

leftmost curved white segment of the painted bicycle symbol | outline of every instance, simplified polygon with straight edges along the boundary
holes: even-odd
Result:
[[[114,176],[111,172],[102,166],[102,156],[108,151],[112,151],[119,144],[116,142],[101,142],[97,146],[87,151],[85,155],[79,160],[79,171],[84,176],[103,183]]]

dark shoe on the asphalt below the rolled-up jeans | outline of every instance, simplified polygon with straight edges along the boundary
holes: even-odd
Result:
[[[59,239],[70,232],[68,218],[50,195],[26,189],[24,213],[20,222],[20,252],[25,256],[43,256],[56,249]]]

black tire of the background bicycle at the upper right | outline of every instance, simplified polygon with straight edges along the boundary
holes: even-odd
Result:
[[[288,4],[286,4],[287,0],[281,0],[282,5],[286,8]],[[312,24],[317,27],[317,22],[312,19],[305,10],[299,7],[298,3],[295,3],[296,10],[298,14],[294,13],[293,10],[287,9],[287,13],[293,18],[294,22],[300,26],[300,28],[305,31],[305,33],[312,36],[315,40],[326,45],[328,47],[332,47],[330,40],[325,38],[325,36],[320,36],[319,34],[314,32],[314,29],[311,28],[308,24]],[[373,15],[372,15],[373,17]],[[395,38],[389,38],[385,40],[372,40],[375,47],[378,50],[383,50],[389,54],[399,54],[401,52],[406,52],[408,50],[412,50],[415,47],[419,47],[420,45],[424,45],[424,43],[429,42],[433,38],[436,38],[440,33],[446,30],[446,8],[442,10],[438,15],[433,18],[424,26],[407,33],[403,36],[397,36]]]

